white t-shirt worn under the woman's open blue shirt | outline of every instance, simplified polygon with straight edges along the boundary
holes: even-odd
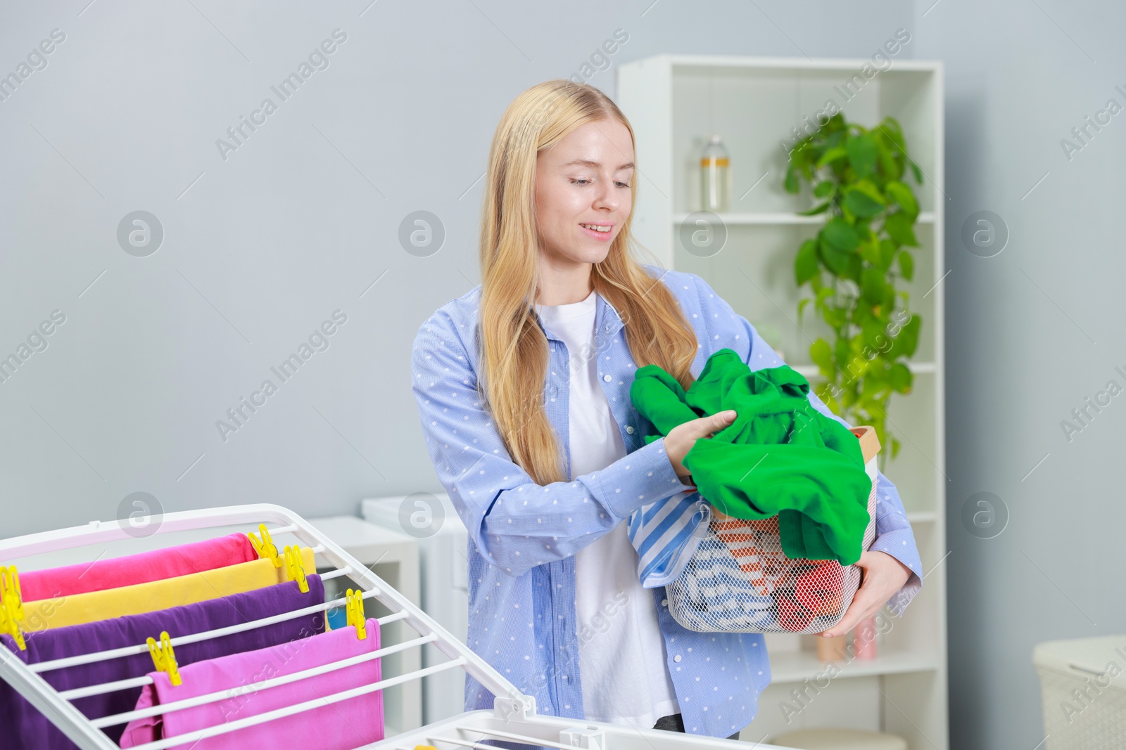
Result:
[[[626,454],[598,382],[597,296],[571,305],[536,305],[544,327],[564,341],[571,362],[571,479]],[[637,552],[623,521],[575,554],[579,679],[584,719],[651,729],[680,712],[665,666],[653,591],[637,578]]]

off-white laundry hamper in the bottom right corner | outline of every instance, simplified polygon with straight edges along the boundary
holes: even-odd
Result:
[[[1126,748],[1126,635],[1038,643],[1033,663],[1046,750]]]

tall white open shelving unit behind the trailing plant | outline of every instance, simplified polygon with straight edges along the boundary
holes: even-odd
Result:
[[[909,365],[912,392],[893,396],[888,406],[888,428],[902,448],[883,471],[900,490],[929,572],[904,616],[887,617],[891,627],[875,660],[843,663],[828,677],[813,652],[815,636],[768,636],[774,684],[742,738],[850,726],[899,734],[912,750],[947,750],[942,67],[893,57],[890,67],[866,78],[866,63],[658,55],[618,69],[617,103],[637,144],[637,241],[664,266],[705,278],[807,378],[817,374],[810,344],[829,332],[812,308],[797,325],[797,302],[808,292],[794,283],[794,255],[824,217],[797,215],[813,205],[807,189],[797,196],[783,189],[788,147],[799,137],[790,129],[806,117],[815,123],[830,99],[849,121],[870,127],[891,115],[902,125],[924,181],[910,181],[922,209],[915,225],[921,247],[915,278],[901,288],[911,292],[910,309],[923,323]],[[679,228],[700,208],[698,159],[713,133],[731,154],[733,188],[731,213],[720,216],[726,243],[703,257],[682,245]],[[890,457],[891,446],[884,452]]]

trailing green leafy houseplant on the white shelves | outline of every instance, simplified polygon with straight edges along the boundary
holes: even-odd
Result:
[[[815,390],[850,424],[873,425],[885,445],[887,401],[893,392],[911,392],[913,374],[905,361],[915,352],[922,325],[908,309],[908,292],[895,287],[913,278],[911,249],[919,246],[919,204],[908,170],[922,182],[894,118],[868,129],[837,112],[797,142],[785,181],[787,192],[808,183],[820,199],[803,215],[828,214],[794,259],[798,288],[808,284],[813,292],[798,302],[798,324],[812,302],[832,331],[832,341],[819,337],[810,346],[823,378]],[[894,458],[900,441],[892,437],[891,446]],[[886,451],[881,457],[886,462]]]

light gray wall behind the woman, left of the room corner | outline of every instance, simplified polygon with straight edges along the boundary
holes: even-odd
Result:
[[[590,79],[611,93],[617,63],[661,52],[867,56],[912,13],[891,0],[812,21],[786,3],[672,0],[88,3],[0,15],[0,73],[65,34],[0,101],[0,356],[65,315],[0,382],[6,534],[113,518],[134,491],[166,510],[322,515],[439,489],[410,346],[477,283],[479,178],[512,98],[579,72],[617,28],[628,42]],[[337,28],[328,67],[282,101],[271,87]],[[267,97],[277,110],[221,154]],[[164,231],[144,257],[117,238],[136,210]],[[399,240],[417,210],[445,227],[426,257]],[[282,382],[270,368],[337,309],[329,347]],[[277,392],[221,435],[267,378]]]

